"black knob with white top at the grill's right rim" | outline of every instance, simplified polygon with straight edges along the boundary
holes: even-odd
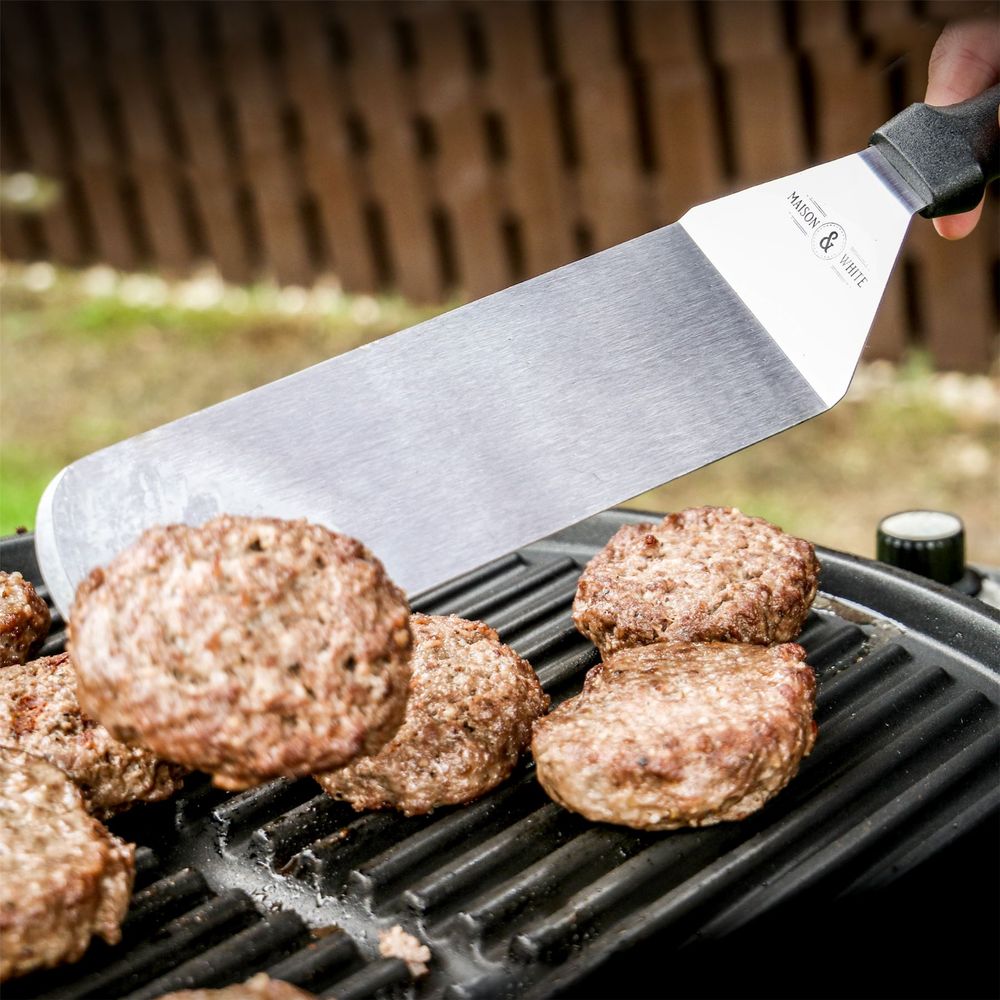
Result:
[[[879,522],[876,555],[890,566],[953,586],[966,576],[965,526],[941,510],[890,514]]]

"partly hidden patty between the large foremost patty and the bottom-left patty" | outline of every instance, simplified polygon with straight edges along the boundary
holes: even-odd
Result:
[[[55,764],[99,819],[169,798],[183,783],[184,768],[120,743],[80,711],[66,653],[0,671],[0,746]]]

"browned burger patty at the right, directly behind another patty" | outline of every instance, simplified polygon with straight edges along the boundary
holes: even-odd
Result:
[[[813,547],[731,507],[629,524],[587,564],[576,627],[607,656],[663,639],[794,639],[819,579]]]

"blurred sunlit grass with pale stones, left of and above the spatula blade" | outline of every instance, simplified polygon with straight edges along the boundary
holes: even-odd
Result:
[[[42,271],[52,280],[33,289],[31,273],[8,266],[2,281],[2,534],[33,527],[46,484],[75,459],[439,311],[218,282],[214,303],[187,306],[197,282],[111,273],[115,289],[91,294],[86,275]],[[159,301],[135,301],[143,283]]]

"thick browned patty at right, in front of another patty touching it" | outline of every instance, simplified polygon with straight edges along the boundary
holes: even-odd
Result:
[[[535,725],[538,780],[567,809],[638,829],[743,819],[815,741],[804,655],[717,642],[616,653]]]

